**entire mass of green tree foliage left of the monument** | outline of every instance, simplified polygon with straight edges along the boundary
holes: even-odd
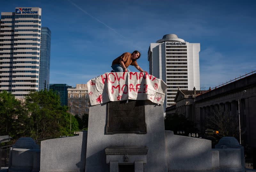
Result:
[[[0,92],[0,135],[10,135],[14,140],[32,137],[35,140],[47,137],[71,135],[78,131],[78,122],[61,106],[59,96],[53,91],[31,92],[25,101],[15,99],[6,91]]]

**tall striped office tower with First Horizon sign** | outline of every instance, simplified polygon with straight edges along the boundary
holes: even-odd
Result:
[[[41,8],[1,13],[0,91],[22,98],[39,90]]]

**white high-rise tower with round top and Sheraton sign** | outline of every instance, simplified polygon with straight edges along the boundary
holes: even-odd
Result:
[[[199,43],[189,43],[175,34],[164,35],[148,49],[149,73],[167,84],[164,109],[174,103],[181,90],[200,89]]]

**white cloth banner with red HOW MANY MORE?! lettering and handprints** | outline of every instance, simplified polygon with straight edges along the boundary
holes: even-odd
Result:
[[[109,72],[87,82],[91,105],[121,100],[164,103],[166,83],[144,72]]]

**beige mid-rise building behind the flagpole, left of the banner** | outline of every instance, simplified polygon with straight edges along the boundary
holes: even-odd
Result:
[[[72,115],[82,117],[84,113],[89,114],[89,106],[87,84],[76,84],[76,88],[68,88],[68,107]]]

